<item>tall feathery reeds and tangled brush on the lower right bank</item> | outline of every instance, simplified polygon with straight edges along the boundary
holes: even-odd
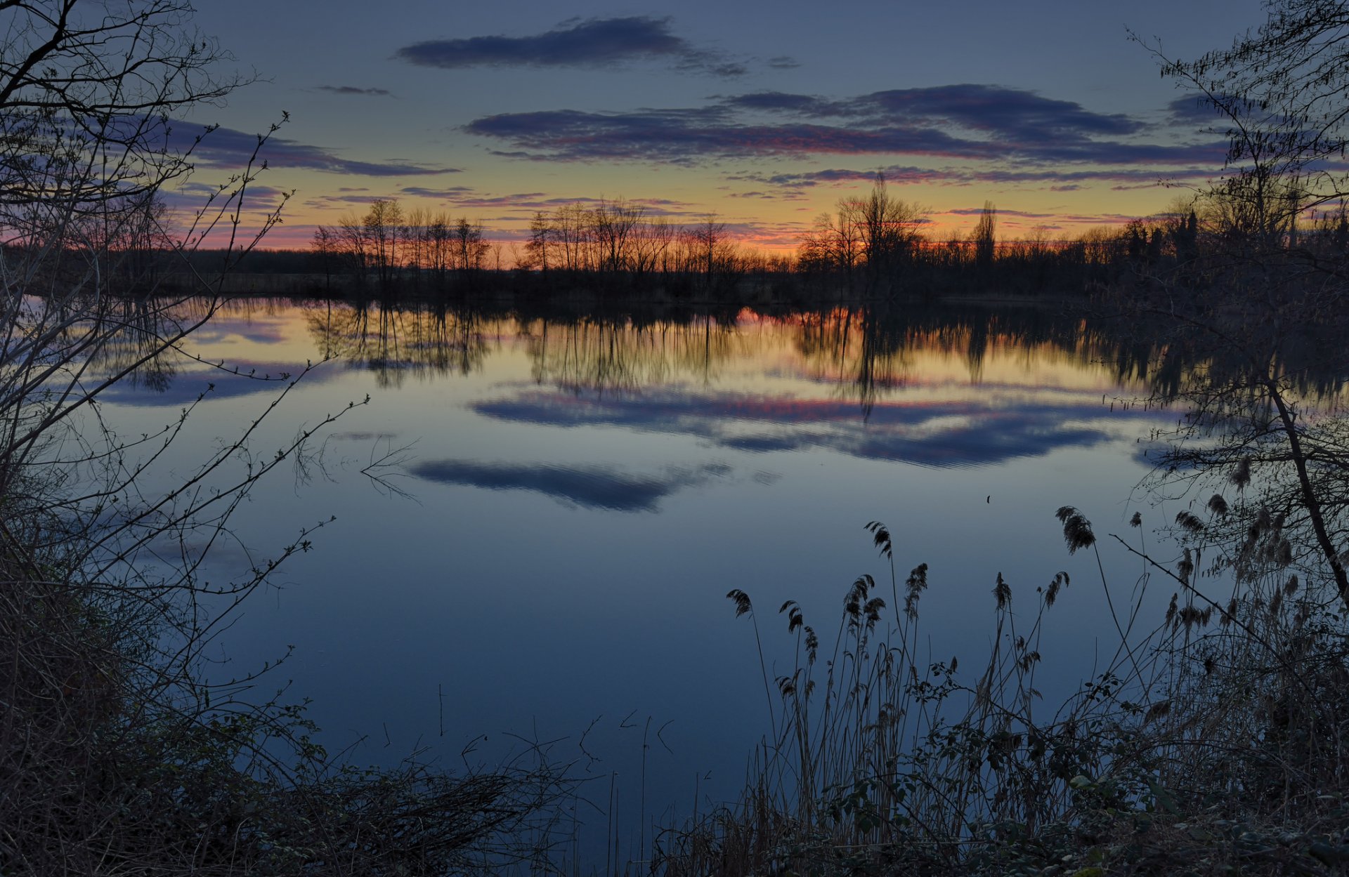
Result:
[[[1070,507],[1059,520],[1070,551],[1097,554],[1110,595],[1090,523]],[[1054,706],[1037,672],[1066,573],[1029,594],[994,575],[990,652],[967,671],[921,656],[927,566],[901,578],[889,531],[867,529],[889,582],[851,585],[832,641],[782,604],[796,660],[773,680],[773,737],[735,806],[662,835],[662,873],[1313,873],[1349,861],[1349,651],[1318,589],[1276,563],[1215,601],[1195,585],[1195,550],[1166,564],[1116,538],[1147,571],[1126,602],[1109,601],[1112,659]],[[1149,582],[1175,589],[1164,612]],[[728,597],[754,616],[749,594]]]

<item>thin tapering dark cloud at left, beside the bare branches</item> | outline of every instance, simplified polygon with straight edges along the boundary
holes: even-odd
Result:
[[[206,129],[193,123],[174,123],[171,143],[179,148],[192,147],[192,160],[197,167],[240,168],[248,163],[254,152],[258,162],[270,167],[301,167],[331,174],[357,174],[364,176],[422,176],[432,174],[455,174],[453,167],[425,167],[409,162],[359,162],[345,159],[324,147],[287,140],[272,135],[258,148],[258,135],[235,131],[233,128]]]

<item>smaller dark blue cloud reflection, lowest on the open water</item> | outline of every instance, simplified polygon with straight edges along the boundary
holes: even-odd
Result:
[[[480,463],[438,459],[415,463],[409,472],[440,484],[461,484],[488,490],[534,490],[583,508],[614,512],[654,512],[666,496],[712,478],[730,467],[708,463],[696,469],[665,469],[633,476],[612,466],[553,466],[546,463]]]

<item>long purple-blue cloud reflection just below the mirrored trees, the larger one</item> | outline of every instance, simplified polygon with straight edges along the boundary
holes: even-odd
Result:
[[[641,399],[529,391],[475,403],[478,414],[544,426],[619,426],[696,435],[743,451],[827,449],[923,466],[982,466],[1105,441],[1074,420],[1101,418],[1095,400],[857,403],[670,392]]]

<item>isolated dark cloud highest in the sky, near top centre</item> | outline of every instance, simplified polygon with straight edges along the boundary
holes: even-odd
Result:
[[[666,61],[679,70],[738,77],[743,63],[695,48],[670,32],[669,18],[569,19],[533,36],[432,39],[403,46],[395,57],[424,67],[600,67],[627,61]]]

